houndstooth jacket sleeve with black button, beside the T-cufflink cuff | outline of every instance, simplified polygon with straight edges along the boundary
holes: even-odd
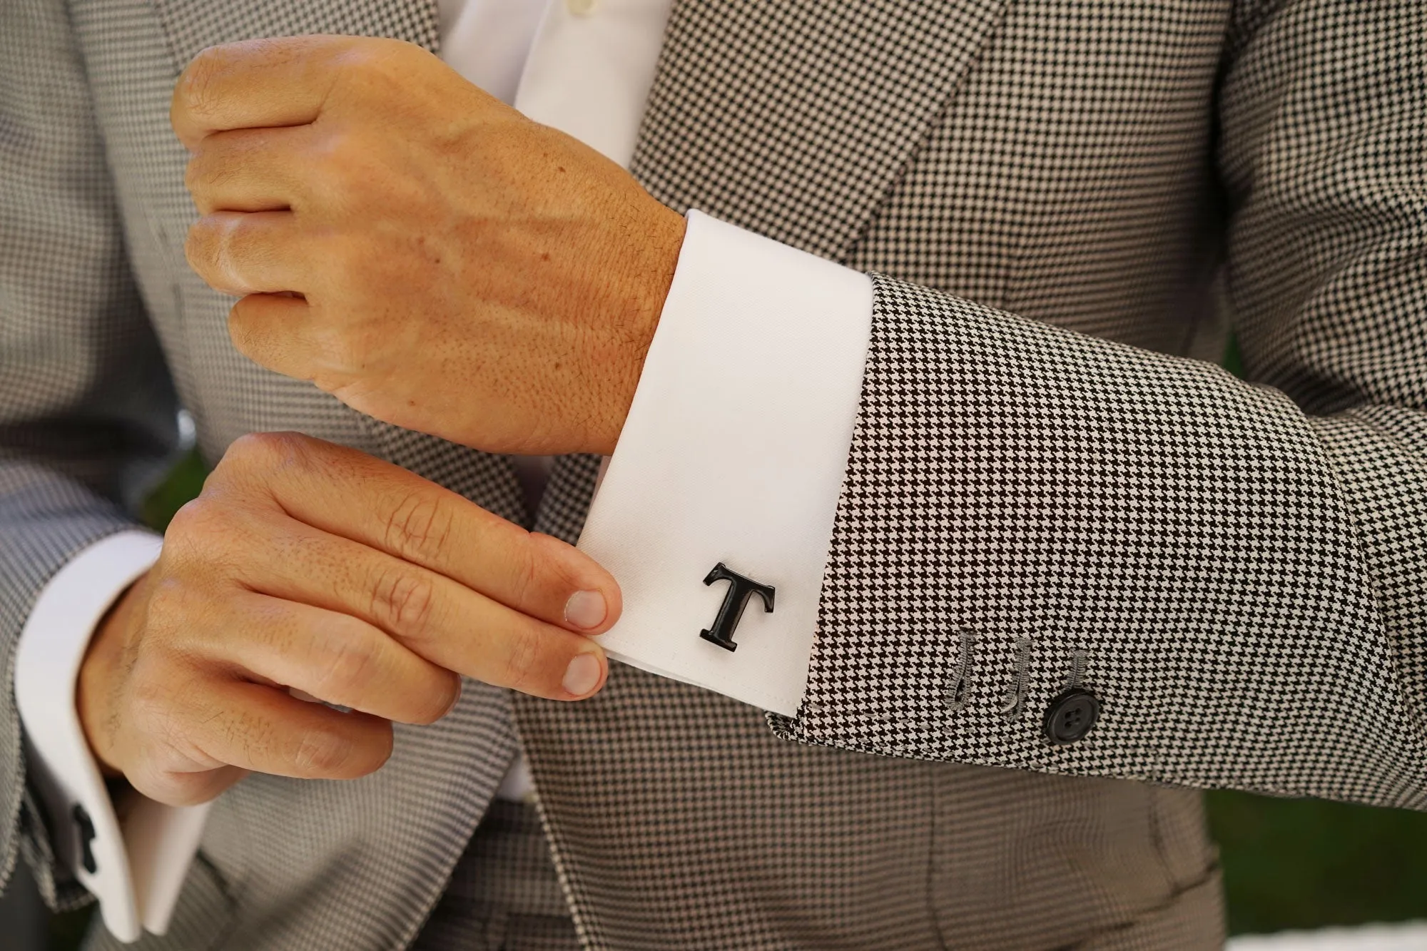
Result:
[[[795,740],[1427,808],[1427,7],[1243,4],[1249,383],[876,278]],[[1056,745],[1067,687],[1102,714]]]

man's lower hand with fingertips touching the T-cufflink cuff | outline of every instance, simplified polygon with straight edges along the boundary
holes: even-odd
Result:
[[[619,615],[588,557],[355,450],[238,440],[80,668],[98,761],[150,798],[210,800],[257,770],[365,775],[391,723],[427,724],[467,674],[578,700]],[[290,694],[350,707],[341,713]]]

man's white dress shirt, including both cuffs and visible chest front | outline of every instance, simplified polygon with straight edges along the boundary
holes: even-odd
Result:
[[[441,53],[492,96],[628,167],[671,1],[437,0]],[[689,214],[579,541],[624,593],[624,615],[601,638],[611,657],[796,713],[870,313],[866,276]],[[549,460],[515,461],[538,500]],[[68,864],[123,941],[166,930],[207,814],[136,797],[120,822],[74,707],[94,627],[158,548],[136,530],[80,553],[40,593],[16,660],[31,780],[50,815],[80,805],[93,821],[98,872]],[[718,563],[776,588],[775,611],[745,613],[738,651],[699,637],[723,598],[723,584],[704,584]],[[498,794],[529,790],[519,757]]]

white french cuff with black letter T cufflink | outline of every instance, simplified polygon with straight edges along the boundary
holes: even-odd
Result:
[[[579,538],[611,657],[796,715],[870,330],[868,276],[689,211]]]

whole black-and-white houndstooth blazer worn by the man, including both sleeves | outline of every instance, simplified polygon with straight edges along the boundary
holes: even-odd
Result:
[[[178,69],[432,47],[432,0],[0,17],[4,683],[178,404],[210,461],[297,428],[579,533],[594,460],[527,513],[507,458],[247,363],[183,261]],[[143,947],[405,945],[517,743],[588,948],[1213,947],[1193,787],[1427,804],[1424,34],[1420,0],[678,0],[635,174],[876,273],[799,715],[468,684],[372,777],[224,794]],[[1251,383],[1200,360],[1226,318]],[[1100,720],[1052,744],[1066,687]],[[73,904],[9,701],[0,743],[0,868]]]

